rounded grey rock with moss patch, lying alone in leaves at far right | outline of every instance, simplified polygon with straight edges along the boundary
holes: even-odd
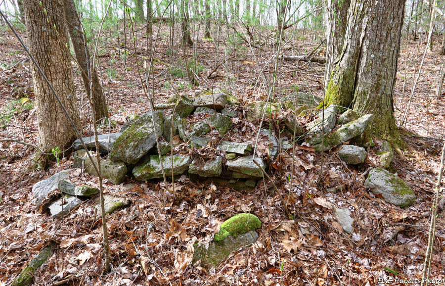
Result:
[[[407,207],[414,203],[414,191],[399,176],[385,169],[374,168],[369,172],[365,186],[375,194],[381,194],[383,199],[400,207]]]

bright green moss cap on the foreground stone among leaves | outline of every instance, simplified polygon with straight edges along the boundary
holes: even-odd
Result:
[[[215,235],[215,241],[221,241],[228,236],[237,237],[249,231],[261,228],[260,219],[253,214],[241,213],[224,221],[220,227],[220,232]]]

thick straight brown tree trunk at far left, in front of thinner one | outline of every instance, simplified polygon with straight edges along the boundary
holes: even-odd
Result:
[[[74,124],[80,128],[71,60],[65,47],[68,43],[68,33],[63,21],[64,4],[63,1],[56,0],[41,0],[41,3],[42,6],[33,0],[23,0],[30,51]],[[54,25],[57,31],[54,30]],[[40,146],[48,153],[55,147],[65,150],[76,137],[74,129],[34,64],[32,64],[32,77]]]

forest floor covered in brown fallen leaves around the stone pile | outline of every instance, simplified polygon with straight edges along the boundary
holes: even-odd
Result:
[[[174,94],[194,95],[197,90],[219,87],[239,97],[239,114],[242,114],[245,102],[267,98],[274,70],[274,47],[270,39],[267,48],[250,48],[242,40],[229,41],[227,33],[232,32],[222,31],[215,41],[198,41],[197,58],[203,70],[199,74],[200,86],[193,87],[186,77],[172,75],[180,75],[178,69],[184,63],[184,55],[190,59],[193,50],[187,48],[183,52],[176,46],[172,54],[168,46],[168,26],[163,25],[154,62],[153,89],[157,102]],[[318,46],[319,40],[314,41],[313,35],[307,31],[306,36],[300,30],[297,32],[298,37],[287,41],[281,53],[304,55]],[[26,39],[25,33],[20,35]],[[121,42],[122,38],[121,34]],[[149,109],[148,100],[138,80],[134,57],[127,56],[124,62],[122,53],[116,49],[118,40],[111,32],[105,31],[102,40],[98,54],[100,74],[111,118],[118,122],[111,132],[118,132],[129,115]],[[175,184],[177,193],[173,198],[170,192],[164,191],[166,186],[162,182],[141,184],[127,177],[119,186],[109,182],[104,185],[106,193],[132,201],[129,208],[108,216],[113,271],[104,275],[102,229],[100,223],[93,220],[92,200],[59,220],[40,212],[33,203],[32,186],[58,170],[70,168],[71,157],[61,160],[59,166],[54,162],[45,171],[36,170],[32,146],[0,142],[0,285],[8,285],[50,240],[56,241],[58,246],[37,270],[35,285],[56,286],[64,282],[113,286],[364,286],[377,285],[379,278],[420,279],[440,151],[445,139],[445,96],[436,98],[435,95],[439,69],[445,59],[437,54],[438,46],[436,44],[433,52],[426,53],[412,96],[405,127],[414,135],[402,133],[406,146],[393,161],[394,171],[416,193],[417,199],[412,206],[401,209],[388,204],[363,186],[366,173],[379,166],[375,151],[382,144],[380,140],[370,149],[365,163],[358,167],[342,162],[335,148],[316,153],[298,143],[293,154],[283,153],[281,165],[270,168],[269,175],[288,199],[294,220],[286,217],[280,199],[267,181],[260,181],[254,191],[243,192],[182,177]],[[130,42],[127,48],[134,50]],[[423,40],[411,40],[408,47],[406,39],[404,41],[394,100],[398,122],[408,104],[412,80],[417,75],[424,48]],[[137,49],[145,49],[145,40]],[[13,34],[4,27],[0,29],[0,50],[3,67],[0,70],[0,139],[18,139],[38,145],[30,62],[26,61],[27,55]],[[323,49],[317,50],[315,55],[323,56]],[[215,68],[216,72],[209,76]],[[92,134],[88,100],[77,67],[74,70],[83,132],[88,136]],[[295,91],[296,86],[302,92],[322,96],[323,75],[323,64],[280,61],[274,96],[279,99]],[[27,99],[21,99],[24,97]],[[259,124],[259,121],[249,123],[242,119],[237,125],[239,128],[229,132],[226,138],[254,142]],[[274,120],[265,125],[278,130]],[[104,126],[99,131],[109,130]],[[188,152],[185,143],[180,148]],[[259,152],[266,157],[267,151],[259,147]],[[289,187],[287,178],[292,156],[294,175]],[[79,172],[75,180],[93,186],[98,184],[97,178],[86,173]],[[334,217],[333,206],[351,210],[353,234],[343,232]],[[233,252],[216,269],[192,265],[187,245],[196,240],[210,241],[221,222],[240,212],[253,213],[262,221],[257,242]],[[444,281],[443,209],[437,218],[434,247],[431,278]]]

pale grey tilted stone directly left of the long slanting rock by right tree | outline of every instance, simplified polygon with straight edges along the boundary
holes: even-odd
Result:
[[[323,115],[324,112],[324,115]],[[337,114],[337,107],[335,105],[331,105],[328,108],[319,112],[311,123],[308,124],[306,133],[306,142],[311,145],[320,143],[323,140],[323,137],[329,134],[335,127],[335,121]],[[324,121],[323,121],[324,118]],[[361,133],[361,132],[360,132]]]

